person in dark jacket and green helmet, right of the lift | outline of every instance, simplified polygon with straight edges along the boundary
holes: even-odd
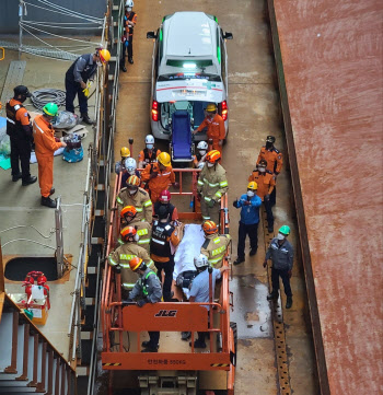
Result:
[[[271,240],[264,262],[264,267],[266,267],[267,260],[271,259],[272,292],[268,294],[267,300],[278,298],[280,277],[282,279],[285,293],[287,297],[286,309],[291,309],[292,306],[290,278],[292,276],[292,264],[294,260],[294,252],[292,245],[287,240],[289,234],[290,228],[288,225],[283,225],[279,229],[277,237],[274,237]]]

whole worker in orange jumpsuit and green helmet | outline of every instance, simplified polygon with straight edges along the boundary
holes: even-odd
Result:
[[[54,152],[67,144],[55,139],[55,130],[51,120],[58,113],[57,104],[48,103],[44,106],[42,115],[33,121],[33,136],[35,140],[35,153],[38,163],[38,183],[42,193],[42,206],[56,208],[55,200],[50,195],[55,194],[54,185]]]

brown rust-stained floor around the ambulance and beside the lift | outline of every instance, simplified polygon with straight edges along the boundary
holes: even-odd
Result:
[[[135,30],[135,65],[120,74],[117,107],[117,135],[115,152],[135,138],[134,156],[143,148],[143,139],[150,132],[150,78],[152,42],[146,39],[147,31],[155,31],[165,14],[182,10],[204,10],[218,16],[223,31],[232,32],[234,39],[228,43],[229,56],[229,120],[230,137],[223,149],[222,164],[229,178],[229,204],[233,259],[236,257],[237,221],[240,211],[231,206],[245,193],[247,176],[254,169],[259,149],[267,135],[277,138],[276,147],[285,150],[283,130],[279,119],[279,96],[275,88],[275,66],[269,50],[268,25],[264,21],[264,1],[219,2],[140,1],[135,10],[138,24]],[[159,142],[160,149],[166,144]],[[278,197],[275,208],[275,230],[290,225],[290,241],[297,248],[294,212],[291,206],[291,186],[286,165],[278,177]],[[239,356],[236,394],[277,394],[277,370],[270,306],[265,301],[267,275],[262,267],[265,257],[264,232],[259,226],[259,249],[255,257],[234,267],[231,291],[234,292],[234,313],[231,321],[239,325]],[[295,259],[297,260],[297,259]],[[290,383],[294,394],[316,394],[315,362],[312,340],[305,322],[306,294],[302,268],[295,262],[291,280],[293,306],[283,311],[289,356]]]

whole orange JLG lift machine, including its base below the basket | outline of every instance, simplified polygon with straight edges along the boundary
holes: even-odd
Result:
[[[179,191],[172,195],[195,199],[199,170],[174,170]],[[192,181],[190,181],[192,175]],[[192,184],[183,190],[183,177]],[[119,178],[119,177],[118,177]],[[116,182],[115,196],[119,191]],[[179,220],[201,223],[199,212],[179,212]],[[228,197],[221,199],[221,233],[229,232]],[[117,246],[119,218],[111,213],[107,254]],[[223,265],[229,266],[228,256]],[[118,271],[118,270],[117,270]],[[132,281],[137,275],[132,274]],[[136,277],[135,277],[136,276]],[[211,294],[211,293],[210,293]],[[236,325],[230,323],[231,294],[229,271],[222,275],[219,300],[209,303],[159,302],[143,307],[121,302],[120,275],[105,262],[102,292],[103,351],[102,364],[109,372],[109,395],[118,392],[141,395],[234,394]],[[209,320],[206,307],[210,305]],[[148,330],[159,330],[158,352],[141,352],[141,341]],[[182,332],[192,333],[189,342],[181,339]],[[209,334],[207,348],[194,348],[196,332]]]

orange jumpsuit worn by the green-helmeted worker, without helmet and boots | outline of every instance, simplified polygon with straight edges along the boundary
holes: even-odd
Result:
[[[54,152],[62,147],[61,142],[55,140],[54,132],[51,124],[43,115],[35,117],[33,137],[38,163],[38,184],[43,197],[50,195],[54,185]]]

